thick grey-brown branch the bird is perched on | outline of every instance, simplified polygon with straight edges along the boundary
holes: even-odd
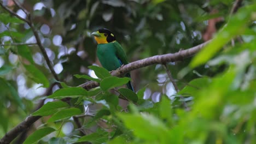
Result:
[[[181,50],[181,51],[176,52],[176,53],[168,53],[168,54],[165,54],[165,55],[157,55],[157,56],[144,58],[144,59],[126,64],[123,67],[121,67],[117,70],[114,70],[111,73],[111,75],[113,75],[113,76],[123,76],[126,73],[128,73],[129,71],[139,69],[139,68],[143,68],[143,67],[147,67],[149,65],[181,61],[184,58],[191,57],[191,56],[195,55],[195,53],[199,52],[209,42],[210,41],[206,41],[205,43],[202,43],[200,45],[191,47],[190,49],[187,49],[187,50]],[[88,90],[88,89],[95,88],[95,87],[98,87],[98,86],[99,86],[99,83],[97,83],[95,81],[89,81],[89,82],[83,83],[82,85],[79,85],[78,87],[83,87],[83,88]]]

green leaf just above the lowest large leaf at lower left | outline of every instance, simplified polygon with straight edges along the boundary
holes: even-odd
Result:
[[[59,121],[61,119],[70,118],[72,116],[80,115],[80,114],[82,114],[82,111],[80,109],[77,109],[74,107],[69,108],[69,109],[62,109],[62,110],[56,112],[53,116],[51,116],[48,119],[48,122]]]

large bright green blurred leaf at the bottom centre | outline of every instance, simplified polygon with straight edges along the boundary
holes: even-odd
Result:
[[[148,114],[126,114],[120,113],[119,117],[123,120],[127,128],[131,129],[136,137],[144,140],[158,141],[166,143],[168,130],[160,119]],[[154,142],[153,142],[154,143]]]

